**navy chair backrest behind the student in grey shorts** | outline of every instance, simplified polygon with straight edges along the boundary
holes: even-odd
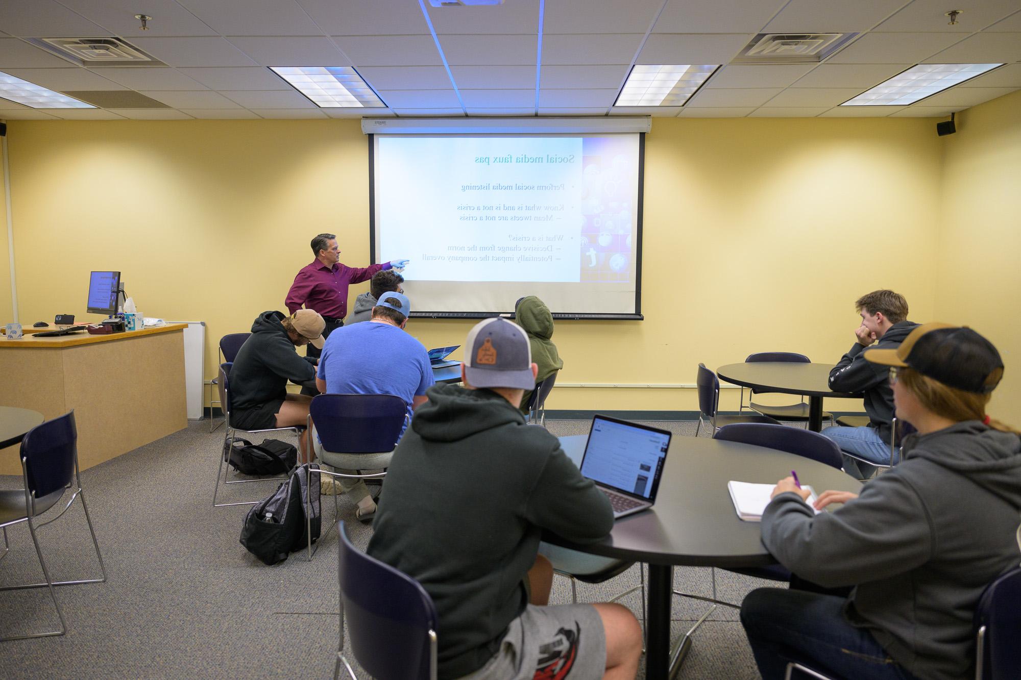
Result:
[[[343,630],[346,620],[358,664],[377,680],[435,678],[439,617],[429,593],[411,577],[354,547],[343,522],[337,532],[340,625]]]

